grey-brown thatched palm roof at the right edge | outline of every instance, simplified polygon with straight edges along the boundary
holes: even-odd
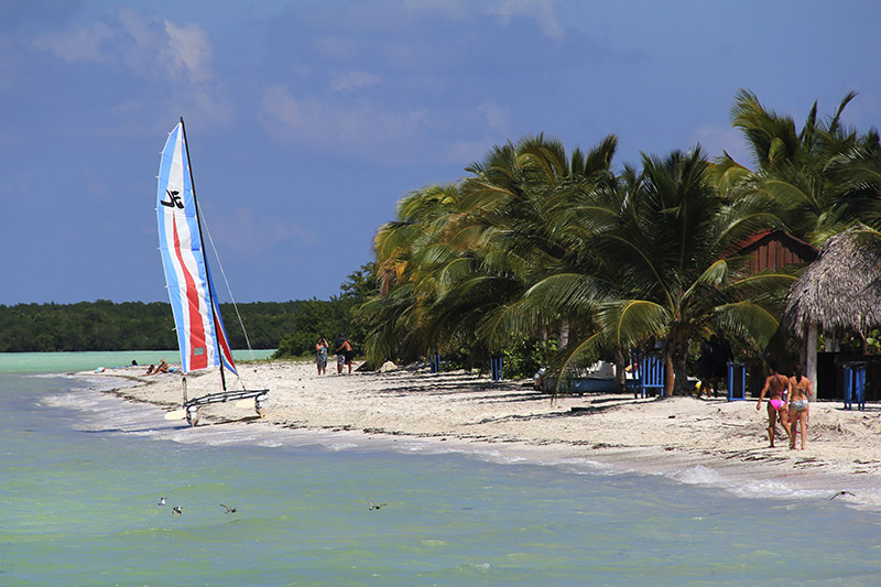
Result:
[[[850,228],[829,238],[790,289],[784,320],[800,334],[811,323],[863,334],[881,325],[881,236]]]

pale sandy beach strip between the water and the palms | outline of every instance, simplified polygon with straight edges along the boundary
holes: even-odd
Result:
[[[240,366],[240,371],[248,389],[271,390],[265,417],[235,402],[210,404],[202,409],[199,426],[239,422],[365,438],[418,438],[674,478],[695,471],[708,476],[693,482],[780,481],[808,490],[845,489],[862,503],[881,506],[877,404],[846,411],[840,402],[812,403],[807,449],[791,450],[780,427],[776,446],[768,446],[765,405],[757,411],[755,400],[749,399],[634,400],[632,394],[601,393],[552,401],[534,391],[531,381],[492,382],[486,374],[464,371],[432,374],[425,366],[340,376],[331,363],[328,374],[318,376],[311,362],[275,361]],[[104,374],[131,384],[111,393],[180,409],[181,376],[143,372],[143,367],[130,367]],[[191,398],[216,392],[219,374],[191,373],[187,389]]]

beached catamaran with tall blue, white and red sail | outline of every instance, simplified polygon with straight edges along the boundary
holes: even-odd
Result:
[[[202,238],[202,220],[189,165],[184,119],[168,134],[159,169],[156,194],[159,241],[168,298],[181,348],[184,402],[183,412],[191,426],[198,422],[198,410],[209,403],[253,398],[262,417],[268,389],[228,390],[226,372],[238,377],[224,320],[217,304],[211,272]],[[186,376],[192,371],[220,368],[216,393],[187,399]],[[242,385],[243,388],[243,385]],[[246,402],[247,403],[247,402]],[[180,417],[180,416],[178,416]]]

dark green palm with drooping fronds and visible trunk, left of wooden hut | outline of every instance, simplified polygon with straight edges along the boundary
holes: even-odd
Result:
[[[779,326],[775,302],[794,278],[746,276],[743,260],[729,257],[774,216],[755,200],[725,203],[699,149],[664,160],[643,155],[642,166],[595,191],[579,209],[583,248],[600,263],[585,274],[583,293],[573,293],[572,282],[568,291],[548,286],[541,303],[595,304],[594,327],[558,368],[654,339],[664,346],[666,392],[685,393],[690,341],[724,331],[762,348]]]

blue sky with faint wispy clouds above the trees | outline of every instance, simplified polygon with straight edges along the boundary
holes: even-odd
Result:
[[[798,128],[853,90],[845,122],[881,126],[879,22],[871,0],[0,0],[0,304],[167,301],[181,117],[221,301],[326,300],[402,197],[493,145],[751,165],[741,88]]]

